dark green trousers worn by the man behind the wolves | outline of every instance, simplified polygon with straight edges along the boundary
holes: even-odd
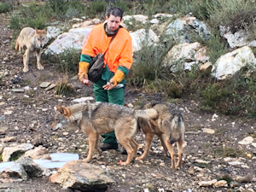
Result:
[[[107,84],[106,80],[98,80],[96,84],[94,84],[94,95],[96,102],[110,102],[119,105],[125,105],[125,89],[112,89],[112,90],[104,90],[102,88],[103,85]],[[111,113],[111,112],[109,112]],[[117,140],[114,135],[114,131],[109,132],[107,134],[102,134],[104,138],[102,143],[110,143],[116,144]]]

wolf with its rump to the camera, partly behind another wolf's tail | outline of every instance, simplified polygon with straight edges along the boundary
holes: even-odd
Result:
[[[143,160],[147,156],[152,139],[154,135],[157,135],[166,151],[166,155],[171,154],[171,168],[180,167],[182,163],[185,134],[183,114],[173,103],[148,103],[142,108],[154,108],[158,113],[158,117],[156,119],[155,117],[154,119],[143,119],[138,117],[138,129],[142,130],[145,134],[145,150],[136,160]],[[177,165],[175,165],[175,154],[172,147],[173,143],[177,143]]]

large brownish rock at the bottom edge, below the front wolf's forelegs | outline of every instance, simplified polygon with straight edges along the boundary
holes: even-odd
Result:
[[[64,189],[81,191],[107,189],[109,184],[114,183],[101,166],[91,165],[83,160],[68,161],[49,177],[49,181],[60,183]]]

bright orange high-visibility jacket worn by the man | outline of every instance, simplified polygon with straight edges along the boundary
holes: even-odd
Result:
[[[132,40],[129,32],[123,28],[119,28],[119,32],[113,38],[108,37],[104,23],[94,26],[87,39],[84,42],[82,55],[90,55],[94,57],[99,53],[103,53],[107,48],[104,56],[104,62],[108,64],[111,72],[115,73],[119,66],[131,69],[132,64]]]

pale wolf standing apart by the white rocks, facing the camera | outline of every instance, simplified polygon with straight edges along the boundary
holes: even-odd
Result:
[[[31,27],[25,27],[21,30],[18,38],[16,39],[15,49],[19,51],[26,49],[23,55],[24,73],[28,72],[29,55],[31,52],[35,52],[37,55],[38,69],[44,69],[41,64],[41,50],[47,42],[48,38],[46,29],[38,30]]]

